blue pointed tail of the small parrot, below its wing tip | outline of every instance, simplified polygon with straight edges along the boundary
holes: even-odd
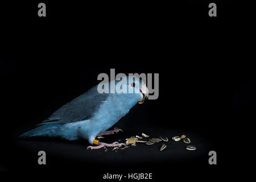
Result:
[[[59,124],[39,126],[33,130],[27,131],[26,133],[19,135],[19,137],[36,137],[36,136],[53,137],[53,135],[55,134],[55,129],[58,126]]]

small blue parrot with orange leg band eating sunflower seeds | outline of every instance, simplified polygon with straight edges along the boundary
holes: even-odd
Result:
[[[39,123],[38,127],[19,137],[85,139],[92,145],[87,147],[90,150],[125,146],[125,143],[100,142],[96,137],[122,131],[122,129],[107,130],[129,113],[134,105],[142,104],[148,98],[148,89],[146,84],[136,76],[124,76],[118,80],[109,81],[108,85],[109,88],[110,85],[114,85],[115,90],[118,88],[122,92],[100,93],[98,85],[93,86],[87,92],[61,106],[50,117]]]

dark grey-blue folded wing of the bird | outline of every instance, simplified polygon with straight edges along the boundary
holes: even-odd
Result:
[[[94,86],[88,92],[60,107],[39,125],[70,123],[90,119],[101,102],[105,101],[108,96],[109,94],[106,93],[98,93],[97,86]]]

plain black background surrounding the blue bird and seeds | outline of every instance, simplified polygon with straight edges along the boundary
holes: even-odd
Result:
[[[152,172],[158,181],[183,176],[184,170],[198,179],[213,177],[253,163],[255,64],[240,49],[250,42],[250,19],[243,19],[232,1],[214,1],[212,18],[212,1],[44,2],[46,18],[37,15],[39,2],[1,6],[2,169],[91,176]],[[193,154],[171,143],[165,154],[139,146],[93,153],[80,140],[17,138],[96,85],[97,75],[110,74],[110,68],[159,73],[160,80],[158,100],[135,106],[117,124],[125,132],[109,140],[184,133],[203,149]],[[47,152],[46,166],[37,164],[40,147]],[[216,166],[208,164],[210,150],[217,152]]]

